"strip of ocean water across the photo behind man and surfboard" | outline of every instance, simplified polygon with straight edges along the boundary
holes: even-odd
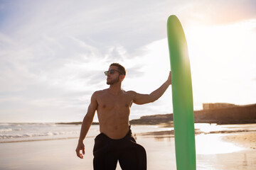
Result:
[[[0,123],[0,143],[26,142],[38,140],[65,140],[78,138],[81,125],[63,125],[57,123]],[[96,137],[99,125],[92,125],[87,137]],[[256,131],[255,124],[216,125],[196,123],[195,129],[200,133],[230,133]],[[161,128],[159,125],[132,125],[133,133],[171,131],[174,128]]]

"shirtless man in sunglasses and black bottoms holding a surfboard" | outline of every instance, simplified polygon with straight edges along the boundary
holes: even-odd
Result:
[[[76,154],[81,159],[83,158],[82,154],[85,154],[83,140],[92,125],[95,111],[97,111],[100,135],[95,137],[94,169],[116,169],[118,160],[122,169],[144,170],[146,169],[146,151],[132,137],[129,126],[130,108],[132,103],[142,105],[160,98],[171,85],[171,72],[167,81],[151,94],[138,94],[135,91],[121,89],[126,71],[118,63],[111,64],[105,75],[110,88],[95,91],[92,94],[87,114],[82,121]],[[81,150],[82,154],[80,154]]]

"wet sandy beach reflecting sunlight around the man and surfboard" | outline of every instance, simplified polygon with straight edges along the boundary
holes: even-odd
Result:
[[[197,169],[256,169],[254,124],[196,124],[195,127],[204,131],[196,135]],[[61,136],[48,140],[2,142],[0,169],[93,169],[92,149],[97,128],[97,125],[93,125],[92,132],[85,139],[84,159],[79,159],[75,154],[78,135],[66,139]],[[174,135],[171,130],[157,125],[132,126],[137,142],[146,149],[149,170],[176,169]],[[117,169],[120,169],[118,164]]]

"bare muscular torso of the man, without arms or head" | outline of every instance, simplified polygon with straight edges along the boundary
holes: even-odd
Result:
[[[97,116],[100,132],[112,139],[121,139],[129,131],[129,113],[134,99],[134,91],[120,91],[111,94],[109,89],[96,91]]]

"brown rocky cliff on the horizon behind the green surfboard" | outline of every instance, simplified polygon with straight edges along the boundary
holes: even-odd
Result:
[[[217,107],[221,106],[221,107]],[[225,106],[225,107],[224,107]],[[235,106],[233,104],[216,103],[202,111],[194,111],[195,123],[243,124],[256,123],[256,104]],[[147,115],[131,120],[132,125],[157,125],[173,121],[173,114]]]

